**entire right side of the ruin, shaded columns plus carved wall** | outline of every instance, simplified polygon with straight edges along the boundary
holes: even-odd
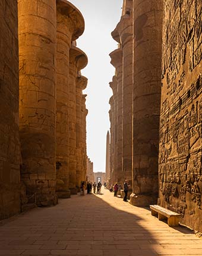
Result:
[[[202,232],[200,0],[124,0],[112,38],[110,176]]]

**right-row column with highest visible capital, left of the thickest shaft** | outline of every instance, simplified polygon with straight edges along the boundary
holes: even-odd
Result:
[[[122,175],[132,183],[132,0],[124,0],[122,17],[112,32],[122,47]]]

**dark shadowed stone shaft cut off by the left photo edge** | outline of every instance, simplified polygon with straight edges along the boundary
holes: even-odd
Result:
[[[20,212],[17,0],[0,1],[0,220]]]

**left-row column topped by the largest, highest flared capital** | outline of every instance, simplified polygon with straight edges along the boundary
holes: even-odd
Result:
[[[66,0],[57,1],[56,192],[70,197],[68,152],[68,99],[71,42],[84,32],[84,18]]]

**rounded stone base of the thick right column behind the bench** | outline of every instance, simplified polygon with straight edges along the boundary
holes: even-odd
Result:
[[[149,207],[150,204],[156,204],[157,196],[149,195],[136,195],[131,193],[130,195],[130,204],[138,207]]]

